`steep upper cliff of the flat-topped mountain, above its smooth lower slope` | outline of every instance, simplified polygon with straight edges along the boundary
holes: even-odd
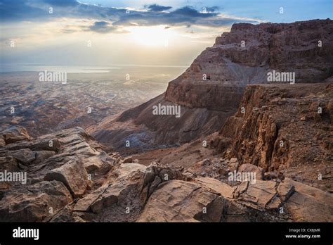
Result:
[[[266,83],[270,70],[294,72],[296,83],[322,82],[333,74],[332,43],[332,20],[234,24],[169,83],[165,98],[223,110],[239,102],[242,87]]]

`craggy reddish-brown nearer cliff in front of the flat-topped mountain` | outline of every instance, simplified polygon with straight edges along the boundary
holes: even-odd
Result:
[[[241,165],[332,189],[326,178],[333,163],[332,98],[332,83],[251,85],[213,144]]]

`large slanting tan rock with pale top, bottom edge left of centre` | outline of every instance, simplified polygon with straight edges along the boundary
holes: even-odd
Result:
[[[168,175],[168,180],[180,177],[170,168],[122,163],[112,169],[105,184],[80,199],[73,211],[90,212],[101,222],[135,221],[150,194]],[[128,212],[128,213],[126,213]]]

